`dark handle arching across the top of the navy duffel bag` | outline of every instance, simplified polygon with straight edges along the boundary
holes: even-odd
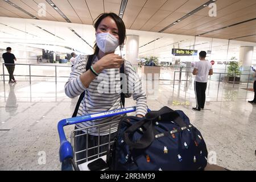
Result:
[[[162,107],[162,109],[158,111],[151,111],[147,113],[145,115],[145,118],[155,120],[158,119],[159,116],[162,117],[163,121],[171,121],[172,119],[180,127],[187,126],[183,119],[180,117],[179,113],[177,113],[176,111],[172,110],[170,107],[167,106]]]

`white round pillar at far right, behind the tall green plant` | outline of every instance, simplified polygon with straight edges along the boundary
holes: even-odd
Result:
[[[253,46],[240,47],[239,60],[242,63],[242,74],[249,75],[251,69],[251,63],[253,61]],[[247,81],[248,76],[241,75],[241,81]]]

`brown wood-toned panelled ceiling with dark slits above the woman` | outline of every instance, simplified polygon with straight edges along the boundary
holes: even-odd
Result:
[[[47,1],[0,0],[0,16],[67,22]],[[208,2],[209,0],[127,0],[122,19],[126,28],[132,30],[159,32],[166,28],[164,33],[192,36],[204,34],[203,36],[210,38],[236,38],[256,42],[255,0],[217,0],[214,2],[217,5],[216,17],[209,16],[208,6],[203,7]],[[41,8],[39,5],[42,3],[44,7]],[[92,24],[101,13],[111,11],[119,14],[122,0],[52,0],[52,3],[72,23]],[[15,4],[22,10],[10,4]],[[170,24],[200,7],[203,8],[168,28]],[[41,10],[46,12],[45,16],[39,15]],[[247,20],[250,21],[246,22]]]

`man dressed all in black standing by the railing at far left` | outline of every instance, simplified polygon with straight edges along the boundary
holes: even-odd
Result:
[[[3,53],[3,60],[5,61],[5,66],[9,72],[9,84],[10,83],[14,83],[16,82],[14,76],[13,76],[13,72],[15,69],[15,64],[14,64],[14,60],[16,61],[16,57],[14,56],[13,53],[11,53],[11,48],[7,47],[6,48],[6,53]]]

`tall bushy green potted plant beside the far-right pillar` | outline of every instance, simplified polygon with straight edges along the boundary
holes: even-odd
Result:
[[[236,59],[235,57],[232,57],[231,60]],[[233,82],[235,81],[236,83],[240,82],[240,65],[238,64],[237,61],[230,61],[229,67],[228,67],[228,76],[225,76],[225,82]],[[234,80],[235,79],[235,80]]]

